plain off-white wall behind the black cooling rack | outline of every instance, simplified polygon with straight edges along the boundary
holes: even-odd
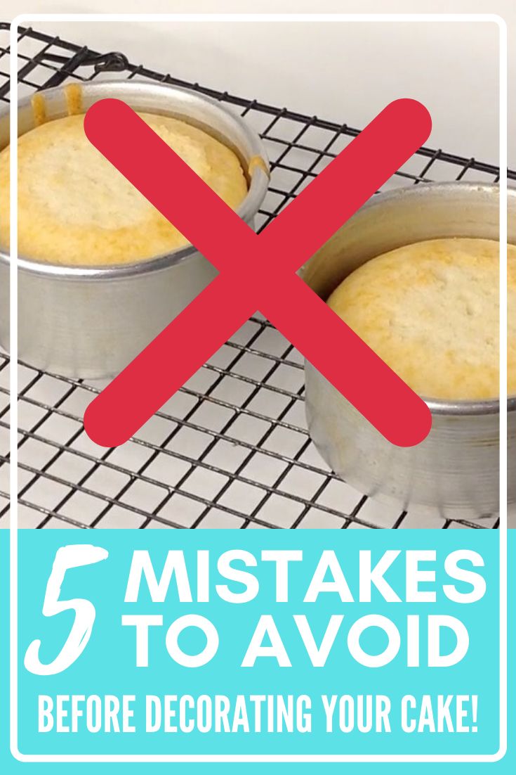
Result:
[[[4,0],[19,12],[484,12],[501,14],[516,40],[514,0],[449,2],[159,2]],[[421,100],[433,119],[429,144],[497,162],[498,29],[493,22],[34,22],[97,50],[244,97],[364,126],[400,96]],[[516,46],[511,50],[511,92]],[[511,105],[510,136],[516,137]],[[516,143],[510,166],[516,168]]]

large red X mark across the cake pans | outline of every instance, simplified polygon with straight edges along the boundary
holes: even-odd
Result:
[[[132,108],[96,102],[84,118],[88,140],[220,274],[91,402],[88,436],[125,443],[259,309],[391,443],[425,439],[424,401],[295,272],[430,128],[419,102],[391,102],[257,235]]]

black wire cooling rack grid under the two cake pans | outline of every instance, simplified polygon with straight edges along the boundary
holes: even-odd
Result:
[[[0,24],[0,101],[9,102],[9,26]],[[19,36],[19,97],[67,80],[138,77],[193,88],[241,112],[261,134],[272,180],[263,228],[358,130],[133,65],[34,29]],[[510,172],[511,181],[516,173]],[[494,182],[498,169],[422,148],[384,188]],[[265,319],[246,323],[134,439],[87,438],[82,415],[100,383],[19,365],[19,524],[26,528],[489,527],[378,505],[334,476],[306,431],[299,353]],[[0,526],[9,524],[9,357],[0,353]]]

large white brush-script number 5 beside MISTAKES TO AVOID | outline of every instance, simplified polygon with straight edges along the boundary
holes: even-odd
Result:
[[[77,544],[75,546],[61,546],[57,549],[53,561],[52,573],[46,584],[45,599],[43,601],[43,616],[55,616],[61,611],[75,611],[73,626],[60,653],[48,665],[39,660],[40,640],[33,640],[26,650],[24,665],[30,673],[39,676],[52,676],[67,670],[75,660],[83,653],[91,636],[91,629],[95,621],[95,607],[89,600],[77,598],[75,600],[60,601],[61,584],[64,575],[70,568],[78,568],[82,565],[100,563],[108,557],[106,549],[91,544]]]

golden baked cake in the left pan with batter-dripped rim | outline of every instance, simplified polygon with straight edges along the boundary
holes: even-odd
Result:
[[[241,204],[248,188],[232,150],[178,119],[138,115],[227,205],[236,209]],[[103,265],[155,257],[188,244],[91,145],[83,122],[84,115],[69,115],[19,137],[19,255],[48,263]],[[4,247],[9,246],[8,192],[6,148],[0,153],[0,244]]]

